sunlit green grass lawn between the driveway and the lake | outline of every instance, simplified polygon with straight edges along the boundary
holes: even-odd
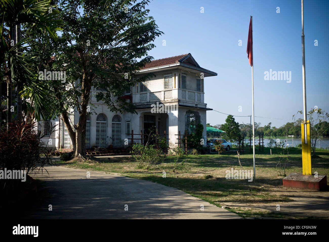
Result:
[[[291,216],[277,212],[275,204],[293,202],[288,195],[280,192],[298,191],[298,189],[283,188],[282,179],[290,173],[302,173],[302,151],[300,148],[290,148],[289,155],[278,153],[280,150],[264,148],[256,150],[256,179],[226,179],[226,171],[240,170],[237,151],[231,149],[220,155],[188,155],[179,158],[184,164],[175,164],[176,156],[167,156],[150,170],[136,169],[137,161],[131,157],[92,158],[94,162],[71,160],[59,162],[70,168],[80,168],[89,171],[104,171],[132,178],[140,178],[175,187],[192,196],[203,199],[216,206],[227,205],[226,209],[241,217],[273,217],[273,218],[310,218],[310,216]],[[287,158],[285,171],[278,164],[279,159]],[[249,150],[240,154],[243,170],[253,170],[253,154]],[[277,166],[277,167],[276,167]],[[176,167],[176,168],[175,168]],[[175,169],[174,169],[175,168]],[[317,149],[312,159],[313,173],[329,175],[329,150]],[[165,178],[163,177],[165,172]],[[237,206],[238,204],[238,206]],[[251,206],[240,206],[249,204]],[[259,210],[261,204],[268,204],[273,211]],[[256,205],[256,206],[255,206]],[[324,216],[326,217],[326,216]]]

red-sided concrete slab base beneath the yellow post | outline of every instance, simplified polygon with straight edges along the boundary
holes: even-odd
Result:
[[[303,175],[291,173],[283,179],[283,187],[294,187],[323,191],[327,187],[327,175]]]

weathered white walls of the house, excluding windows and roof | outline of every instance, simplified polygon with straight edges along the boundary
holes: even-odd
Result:
[[[172,89],[164,89],[164,75],[166,74],[172,74],[173,77],[173,84]],[[172,112],[169,113],[151,113],[150,108],[145,109],[137,109],[137,114],[131,114],[127,112],[120,113],[113,113],[111,112],[107,105],[104,104],[103,101],[97,102],[96,98],[94,97],[94,94],[96,94],[95,88],[92,87],[91,89],[91,100],[90,100],[90,107],[93,111],[93,114],[90,115],[90,147],[96,145],[96,117],[98,114],[103,113],[107,118],[107,130],[106,130],[106,136],[112,137],[112,118],[114,115],[118,115],[121,118],[121,146],[124,146],[124,140],[127,138],[131,138],[131,136],[126,135],[126,121],[131,121],[131,128],[130,130],[134,130],[135,134],[140,134],[140,130],[144,130],[144,115],[155,115],[155,123],[156,127],[159,130],[160,134],[164,134],[164,130],[166,131],[166,134],[169,137],[169,146],[170,147],[177,147],[177,138],[178,136],[176,134],[181,132],[181,135],[184,135],[185,132],[185,115],[188,110],[195,110],[199,112],[200,114],[200,121],[204,126],[204,132],[203,136],[206,138],[206,110],[202,109],[205,108],[206,105],[204,104],[204,93],[203,93],[203,80],[201,80],[201,100],[188,100],[182,99],[182,84],[181,84],[181,75],[185,74],[187,76],[186,79],[186,90],[194,91],[196,92],[196,78],[199,77],[195,73],[189,73],[188,71],[182,71],[181,69],[172,69],[172,70],[163,70],[156,72],[156,76],[152,77],[148,81],[148,92],[159,92],[159,91],[167,91],[172,90],[173,92],[173,98],[172,100],[164,100],[164,92],[162,92],[162,98],[161,100],[158,100],[159,103],[165,103],[166,105],[188,105],[190,107],[182,107],[178,106],[178,108]],[[78,80],[79,81],[79,80]],[[78,82],[77,81],[77,82]],[[197,93],[197,92],[196,92]],[[132,99],[133,103],[137,106],[140,105],[139,100],[139,85],[132,87]],[[149,94],[148,94],[149,95]],[[149,100],[149,99],[148,99]],[[154,103],[156,104],[156,100],[152,102],[148,102],[149,104]],[[198,106],[198,107],[196,107]],[[96,113],[96,114],[94,114]],[[75,110],[74,116],[71,117],[71,120],[76,124],[79,121],[79,113],[77,110]],[[56,121],[58,123],[58,119]],[[160,123],[160,126],[159,126]],[[63,121],[61,121],[61,147],[64,147],[64,132],[63,132]],[[58,147],[58,135],[59,131],[56,132],[54,135],[54,141],[52,142],[52,146]],[[137,138],[140,139],[140,135],[134,136],[136,140],[134,140],[134,143],[140,142],[140,140],[137,140]],[[107,139],[106,147],[110,145],[110,140]],[[128,143],[131,143],[131,140],[128,140]]]

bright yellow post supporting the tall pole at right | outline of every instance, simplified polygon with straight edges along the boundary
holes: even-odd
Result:
[[[305,125],[306,125],[306,140],[305,144]],[[310,137],[310,121],[302,122],[302,157],[303,157],[303,175],[312,175],[311,164],[311,137]]]

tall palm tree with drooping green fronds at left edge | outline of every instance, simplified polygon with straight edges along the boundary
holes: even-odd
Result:
[[[34,74],[33,64],[40,57],[38,54],[26,55],[30,50],[32,39],[21,40],[21,24],[27,28],[43,30],[51,38],[57,39],[56,30],[61,30],[61,20],[58,17],[57,6],[50,5],[51,0],[0,0],[1,18],[1,70],[0,80],[7,80],[7,125],[12,121],[12,85],[17,90],[17,120],[22,119],[21,91],[30,96],[37,119],[45,116],[49,105],[46,101],[46,90],[37,75]],[[16,36],[16,38],[14,38]],[[16,41],[15,41],[16,40]],[[44,43],[45,44],[45,43]],[[41,57],[42,59],[42,53]],[[41,63],[41,62],[40,62]],[[41,65],[39,65],[39,68]],[[32,105],[31,105],[32,107]],[[42,107],[42,108],[41,108]]]

